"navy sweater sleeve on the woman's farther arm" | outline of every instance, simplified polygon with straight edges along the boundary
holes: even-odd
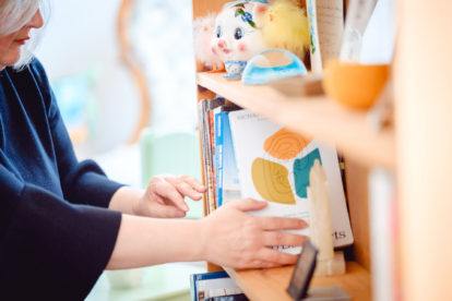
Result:
[[[64,198],[73,204],[107,208],[122,184],[109,180],[95,161],[78,161],[47,75],[37,59],[32,62],[31,71],[45,99]]]

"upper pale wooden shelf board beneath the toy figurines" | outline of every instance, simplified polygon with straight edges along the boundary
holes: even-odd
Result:
[[[198,73],[198,85],[293,131],[336,146],[366,166],[394,168],[394,133],[372,131],[367,115],[347,110],[325,96],[302,96],[299,79],[269,86],[245,86],[223,74]]]

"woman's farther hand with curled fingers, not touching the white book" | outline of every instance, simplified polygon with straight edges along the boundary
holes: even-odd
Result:
[[[135,215],[185,217],[189,207],[185,197],[200,201],[205,188],[189,176],[157,176],[151,179],[144,195],[135,203]]]

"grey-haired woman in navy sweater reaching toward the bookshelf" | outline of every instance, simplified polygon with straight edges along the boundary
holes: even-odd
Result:
[[[281,230],[306,224],[246,214],[264,202],[237,201],[201,220],[163,219],[185,216],[183,197],[200,200],[204,188],[167,177],[140,191],[108,180],[91,160],[79,162],[46,73],[24,51],[43,24],[37,0],[0,0],[2,299],[80,300],[105,268],[295,263],[269,246],[300,245],[302,237]]]

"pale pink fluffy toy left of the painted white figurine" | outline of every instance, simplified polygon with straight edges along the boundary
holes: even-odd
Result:
[[[212,72],[224,69],[219,57],[211,47],[211,40],[215,27],[215,14],[195,19],[193,22],[194,53],[197,61],[211,69]]]

